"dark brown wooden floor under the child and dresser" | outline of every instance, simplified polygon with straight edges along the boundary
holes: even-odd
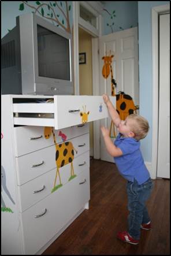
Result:
[[[116,238],[118,231],[127,230],[128,216],[127,181],[116,165],[92,159],[90,183],[90,209],[84,210],[44,255],[170,255],[169,180],[154,180],[147,202],[153,228],[141,232],[138,245]]]

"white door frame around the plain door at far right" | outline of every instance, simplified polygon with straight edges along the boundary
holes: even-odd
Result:
[[[170,5],[161,5],[151,10],[152,25],[152,63],[153,63],[153,129],[152,129],[152,157],[151,157],[151,178],[157,178],[158,162],[158,99],[159,99],[159,56],[158,56],[158,18],[159,14],[170,12]]]

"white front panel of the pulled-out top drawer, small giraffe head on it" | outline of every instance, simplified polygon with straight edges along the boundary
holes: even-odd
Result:
[[[115,105],[116,97],[110,97]],[[102,96],[54,96],[55,129],[108,117]]]

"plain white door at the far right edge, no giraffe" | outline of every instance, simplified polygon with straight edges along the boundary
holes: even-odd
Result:
[[[159,129],[157,177],[170,178],[170,15],[159,17]]]

